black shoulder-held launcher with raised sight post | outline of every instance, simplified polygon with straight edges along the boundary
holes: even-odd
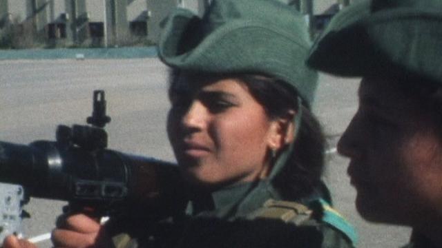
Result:
[[[172,163],[107,149],[103,90],[93,94],[90,125],[59,125],[55,141],[28,145],[0,141],[0,182],[21,185],[30,197],[67,200],[70,210],[95,215],[153,209],[162,216],[186,203],[182,178]]]

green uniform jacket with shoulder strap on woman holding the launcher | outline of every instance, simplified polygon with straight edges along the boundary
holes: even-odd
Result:
[[[262,180],[193,193],[187,208],[171,218],[110,225],[114,232],[126,229],[114,236],[117,248],[354,247],[354,229],[322,196],[318,190],[308,198],[282,200]]]

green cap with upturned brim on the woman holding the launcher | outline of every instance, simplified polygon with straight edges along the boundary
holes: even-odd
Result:
[[[257,73],[289,83],[311,103],[317,73],[305,18],[274,0],[214,0],[203,17],[177,8],[163,23],[160,59],[172,68]]]

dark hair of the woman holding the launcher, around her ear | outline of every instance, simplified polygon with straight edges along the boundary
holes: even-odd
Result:
[[[283,117],[290,110],[302,108],[294,149],[286,162],[289,166],[277,175],[274,185],[288,198],[301,198],[320,189],[325,167],[325,136],[310,107],[305,101],[298,106],[298,94],[278,79],[253,74],[239,74],[236,78],[247,85],[269,118]]]

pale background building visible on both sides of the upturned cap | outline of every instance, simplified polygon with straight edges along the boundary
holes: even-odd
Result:
[[[252,0],[251,0],[252,1]],[[306,15],[313,32],[350,0],[280,0]],[[356,0],[355,0],[356,1]],[[0,46],[121,46],[156,43],[176,6],[202,14],[211,0],[0,0]],[[4,45],[3,45],[4,46]]]

